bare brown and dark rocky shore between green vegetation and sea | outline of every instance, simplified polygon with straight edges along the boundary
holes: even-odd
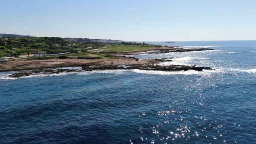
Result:
[[[115,58],[101,58],[101,59],[49,59],[49,60],[14,60],[7,63],[0,64],[0,72],[8,71],[21,71],[10,75],[10,77],[29,76],[32,74],[56,74],[60,72],[74,72],[76,70],[66,70],[66,67],[82,67],[82,71],[91,70],[117,70],[117,69],[140,69],[140,70],[162,70],[162,71],[180,71],[180,70],[197,70],[203,69],[211,70],[210,67],[197,67],[197,66],[159,66],[157,63],[164,61],[172,61],[170,58],[163,59],[151,59],[151,60],[139,60],[134,57],[126,57],[125,55],[136,54],[158,54],[167,52],[191,52],[202,50],[214,50],[208,48],[198,49],[182,49],[174,47],[160,47],[149,48],[146,50],[133,50],[129,52],[118,52],[117,54],[111,54]],[[96,55],[92,55],[96,56]],[[62,68],[61,70],[58,68]],[[49,70],[50,69],[50,70]],[[52,70],[57,69],[57,70]],[[24,71],[26,70],[26,71]]]

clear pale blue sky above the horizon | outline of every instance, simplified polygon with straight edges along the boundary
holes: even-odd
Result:
[[[256,0],[0,0],[0,33],[128,41],[256,40]]]

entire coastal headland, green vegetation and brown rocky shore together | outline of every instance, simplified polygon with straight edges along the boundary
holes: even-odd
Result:
[[[183,49],[179,46],[150,45],[120,40],[55,37],[2,37],[0,56],[8,61],[0,63],[0,72],[18,71],[10,77],[33,74],[58,74],[92,70],[211,70],[210,67],[161,66],[160,62],[172,58],[141,60],[126,55],[161,54],[168,52],[191,52],[214,50],[210,48]],[[7,57],[9,56],[9,57]],[[80,67],[69,69],[67,67]]]

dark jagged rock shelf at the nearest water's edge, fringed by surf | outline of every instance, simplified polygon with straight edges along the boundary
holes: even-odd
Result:
[[[23,76],[32,76],[36,74],[59,74],[63,72],[86,72],[92,70],[157,70],[157,71],[187,71],[187,70],[212,70],[210,67],[198,67],[198,66],[184,66],[184,65],[170,65],[160,66],[156,65],[156,62],[170,61],[166,58],[155,59],[148,64],[122,64],[122,65],[101,65],[99,63],[84,64],[82,68],[78,69],[66,69],[66,68],[40,68],[38,70],[25,70],[9,75],[10,78],[20,78]]]

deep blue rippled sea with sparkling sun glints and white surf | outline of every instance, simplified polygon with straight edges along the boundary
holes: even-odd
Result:
[[[255,144],[256,41],[146,42],[209,51],[172,58],[179,72],[0,73],[0,144]]]

